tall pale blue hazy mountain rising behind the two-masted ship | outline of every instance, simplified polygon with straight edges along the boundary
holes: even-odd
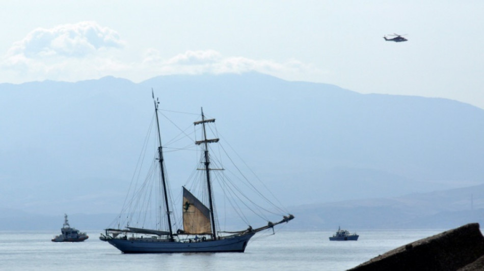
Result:
[[[0,84],[7,131],[1,206],[52,215],[118,212],[152,117],[152,87],[163,109],[197,113],[203,106],[216,117],[224,138],[287,205],[482,183],[484,111],[468,104],[362,95],[257,73],[141,83],[104,77]],[[173,162],[169,169],[176,188],[183,167]]]

